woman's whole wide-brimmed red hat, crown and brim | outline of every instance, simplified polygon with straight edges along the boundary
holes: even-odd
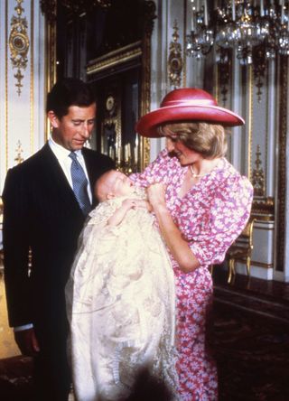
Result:
[[[200,121],[221,126],[242,126],[242,117],[219,107],[215,98],[202,89],[182,88],[168,93],[161,107],[141,117],[135,131],[149,138],[162,136],[158,126],[176,121]]]

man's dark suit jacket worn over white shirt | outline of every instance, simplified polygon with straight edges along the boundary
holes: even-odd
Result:
[[[114,168],[84,148],[91,189]],[[43,331],[65,320],[64,286],[84,217],[48,144],[8,171],[3,192],[5,289],[11,326],[32,322]],[[94,201],[94,204],[96,201]],[[29,273],[28,249],[32,249]]]

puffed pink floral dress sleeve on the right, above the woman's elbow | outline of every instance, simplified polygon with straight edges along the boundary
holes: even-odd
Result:
[[[219,187],[207,221],[188,238],[191,251],[200,265],[221,263],[228,247],[247,224],[253,188],[246,177],[233,177]],[[193,228],[192,228],[193,230]]]

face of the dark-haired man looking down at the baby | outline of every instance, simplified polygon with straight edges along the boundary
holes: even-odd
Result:
[[[53,140],[70,151],[81,149],[91,135],[96,111],[95,103],[88,107],[70,106],[68,114],[61,119],[49,111]]]

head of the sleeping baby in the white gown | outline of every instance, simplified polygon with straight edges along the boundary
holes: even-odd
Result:
[[[126,177],[126,174],[117,170],[109,170],[102,174],[95,186],[95,195],[100,202],[133,193],[134,183]]]

